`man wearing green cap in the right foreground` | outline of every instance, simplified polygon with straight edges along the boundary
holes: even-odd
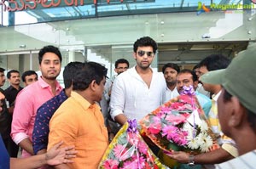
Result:
[[[256,166],[256,43],[232,60],[227,69],[201,76],[204,82],[222,85],[218,98],[218,119],[225,135],[236,142],[239,155],[218,168]],[[235,165],[235,166],[234,166]]]

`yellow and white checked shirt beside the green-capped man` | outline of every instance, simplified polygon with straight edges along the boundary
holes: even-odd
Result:
[[[224,135],[221,131],[220,124],[218,121],[218,106],[217,106],[217,99],[220,95],[221,91],[216,95],[212,96],[212,108],[209,112],[209,123],[212,127],[212,132],[215,134],[216,138],[218,138],[218,144],[221,146],[222,149],[225,149],[230,155],[234,157],[238,156],[238,151],[236,149],[236,143],[231,138]]]

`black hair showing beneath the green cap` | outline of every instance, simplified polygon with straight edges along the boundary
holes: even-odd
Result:
[[[224,103],[229,102],[230,99],[233,97],[232,94],[230,94],[225,88],[224,88]],[[245,107],[247,111],[247,121],[250,124],[250,127],[253,128],[253,132],[256,134],[256,112],[255,110],[248,110]]]

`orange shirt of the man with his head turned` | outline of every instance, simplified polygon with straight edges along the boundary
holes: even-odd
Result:
[[[74,169],[96,169],[108,148],[108,131],[100,107],[90,104],[79,93],[72,92],[49,122],[48,149],[64,141],[62,146],[75,145],[78,151]]]

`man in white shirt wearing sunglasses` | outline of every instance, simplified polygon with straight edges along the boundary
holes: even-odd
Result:
[[[120,125],[128,119],[141,120],[161,104],[165,78],[150,67],[156,50],[157,44],[152,38],[137,39],[133,45],[137,65],[117,76],[113,82],[110,115]]]

